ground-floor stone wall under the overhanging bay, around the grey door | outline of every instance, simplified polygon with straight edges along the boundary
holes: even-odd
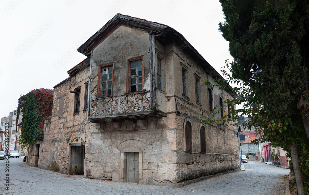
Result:
[[[139,122],[124,120],[120,124],[107,122],[104,130],[97,128],[89,139],[86,154],[86,176],[112,177],[125,182],[126,151],[140,152],[140,183],[160,184],[176,181],[176,171],[170,162],[176,161],[176,129],[159,125],[158,118],[147,118],[145,126]],[[118,127],[115,127],[119,125]]]

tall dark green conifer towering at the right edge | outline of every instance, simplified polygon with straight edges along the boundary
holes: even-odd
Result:
[[[232,76],[248,83],[278,126],[291,121],[284,126],[288,129],[301,114],[303,127],[298,128],[309,138],[308,1],[220,2],[226,21],[220,23],[219,31],[230,42]],[[291,155],[296,158],[295,139],[288,141]],[[294,166],[295,173],[296,169]],[[299,181],[297,185],[301,185]],[[300,189],[298,192],[303,194]]]

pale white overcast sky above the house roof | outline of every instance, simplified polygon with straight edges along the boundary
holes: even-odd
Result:
[[[232,59],[218,0],[1,0],[0,117],[36,88],[53,89],[86,57],[77,48],[117,13],[180,32],[219,73]]]

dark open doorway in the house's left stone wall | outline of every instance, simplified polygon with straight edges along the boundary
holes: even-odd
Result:
[[[84,158],[85,158],[85,146],[71,147],[70,174],[73,174],[75,166],[77,167],[77,174],[84,173]]]

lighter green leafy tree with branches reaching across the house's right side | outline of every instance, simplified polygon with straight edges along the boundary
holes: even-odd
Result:
[[[227,66],[230,72],[232,72],[230,65]],[[291,158],[293,159],[293,168],[295,172],[296,183],[299,194],[304,194],[303,184],[306,186],[306,192],[309,193],[309,159],[308,159],[308,143],[309,139],[306,136],[303,127],[303,118],[297,109],[294,109],[295,113],[291,118],[287,118],[282,121],[276,115],[272,115],[271,111],[260,102],[258,96],[256,96],[256,90],[250,87],[249,83],[235,80],[235,78],[226,70],[222,69],[221,72],[228,79],[214,78],[215,83],[205,81],[206,85],[211,87],[217,87],[226,91],[231,90],[237,93],[235,99],[231,101],[225,101],[229,108],[232,108],[222,118],[213,119],[216,113],[212,113],[211,119],[200,118],[203,123],[223,122],[225,125],[234,125],[232,120],[238,118],[239,113],[248,115],[250,120],[243,123],[246,128],[255,127],[257,133],[263,131],[263,136],[259,138],[260,141],[272,142],[273,146],[280,146],[286,151],[290,151]],[[222,83],[237,83],[240,87],[231,87],[222,85]],[[243,104],[242,109],[234,109],[233,105]],[[220,110],[220,109],[219,109]],[[254,140],[252,143],[258,143],[259,140]],[[300,153],[302,151],[302,153]]]

